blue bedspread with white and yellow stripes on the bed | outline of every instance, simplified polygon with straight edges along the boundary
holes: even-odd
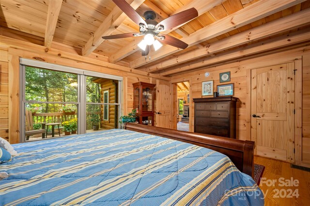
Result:
[[[263,205],[253,179],[216,151],[127,130],[16,144],[0,205]]]

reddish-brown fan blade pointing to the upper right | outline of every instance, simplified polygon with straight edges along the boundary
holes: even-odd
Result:
[[[195,8],[187,9],[183,12],[177,13],[175,15],[169,16],[168,18],[162,20],[156,25],[156,28],[160,25],[164,26],[164,30],[172,29],[176,26],[186,23],[198,16],[198,11]]]

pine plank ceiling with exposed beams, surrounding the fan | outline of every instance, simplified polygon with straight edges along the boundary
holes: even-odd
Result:
[[[127,0],[142,16],[159,22],[194,7],[199,16],[166,33],[189,44],[164,45],[141,56],[143,37],[103,40],[139,32],[111,0],[1,0],[0,34],[34,44],[74,48],[111,63],[163,76],[233,61],[310,41],[310,0]]]

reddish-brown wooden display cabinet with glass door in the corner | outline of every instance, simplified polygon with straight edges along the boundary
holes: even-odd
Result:
[[[134,86],[134,109],[137,110],[139,124],[154,126],[155,84],[137,82]]]

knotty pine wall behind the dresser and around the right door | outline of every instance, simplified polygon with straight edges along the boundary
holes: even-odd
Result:
[[[302,59],[302,60],[301,60]],[[299,60],[299,61],[298,61]],[[302,61],[302,62],[301,62]],[[297,150],[295,153],[295,162],[299,165],[310,166],[310,45],[300,44],[298,47],[294,46],[291,49],[279,50],[278,52],[266,53],[259,57],[253,57],[251,59],[239,60],[237,62],[220,64],[215,67],[202,68],[192,72],[186,73],[186,76],[191,76],[191,101],[193,98],[202,98],[202,82],[213,80],[214,91],[217,90],[217,85],[234,83],[234,96],[238,97],[237,102],[237,125],[236,136],[237,139],[250,140],[250,69],[260,68],[263,66],[276,65],[283,62],[295,62],[295,67],[301,68],[302,63],[302,80],[298,80],[296,77],[300,75],[299,71],[296,71],[295,81],[302,81],[302,99],[295,99],[295,104],[300,104],[302,101],[302,109],[296,108],[296,115],[301,119],[302,113],[302,135],[301,135],[301,122],[295,121],[295,143]],[[219,74],[223,72],[231,72],[231,81],[225,83],[219,83]],[[209,72],[210,75],[205,77],[204,74]],[[181,82],[183,81],[184,74],[178,74],[172,76],[171,81]],[[295,87],[295,94],[301,92],[300,88]],[[301,97],[301,95],[300,95]],[[302,112],[301,112],[302,111]],[[194,131],[194,103],[191,106],[191,131]],[[298,132],[300,130],[300,133]]]

